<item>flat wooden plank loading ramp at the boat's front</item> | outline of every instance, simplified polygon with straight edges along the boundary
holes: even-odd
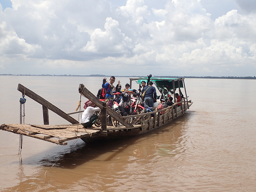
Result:
[[[72,125],[28,125],[28,124],[2,124],[1,130],[26,135],[48,142],[66,145],[66,141],[76,138],[90,137],[100,130],[85,129],[81,124]]]

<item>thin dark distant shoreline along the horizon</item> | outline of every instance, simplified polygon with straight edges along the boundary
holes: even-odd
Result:
[[[49,74],[42,74],[42,75],[14,75],[14,74],[0,74],[2,76],[68,76],[68,77],[108,77],[109,75],[99,75],[99,74],[92,74],[92,75],[49,75]],[[116,76],[116,77],[146,77],[146,76]],[[200,78],[200,79],[256,79],[256,77],[248,76],[248,77],[214,77],[214,76],[153,76],[152,78]]]

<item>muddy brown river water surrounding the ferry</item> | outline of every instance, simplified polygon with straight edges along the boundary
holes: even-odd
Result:
[[[18,83],[70,113],[80,100],[79,84],[96,94],[102,78],[0,76],[0,124],[20,122]],[[255,191],[256,81],[188,78],[185,85],[190,110],[126,140],[60,146],[24,136],[18,155],[19,135],[0,130],[0,191]],[[42,106],[25,98],[25,123],[43,124]],[[49,119],[68,124],[51,111]]]

